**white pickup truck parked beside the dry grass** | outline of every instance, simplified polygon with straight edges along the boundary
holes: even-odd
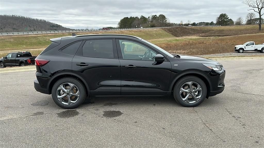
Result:
[[[239,53],[244,51],[259,51],[264,53],[264,43],[255,45],[255,42],[246,42],[243,45],[236,45],[234,50]]]

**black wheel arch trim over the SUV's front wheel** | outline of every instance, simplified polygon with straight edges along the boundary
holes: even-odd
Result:
[[[175,86],[175,84],[177,83],[178,80],[180,80],[180,78],[185,77],[185,76],[196,76],[200,79],[202,79],[202,81],[204,81],[206,88],[207,88],[207,94],[206,94],[206,98],[209,97],[210,95],[210,91],[212,90],[212,83],[210,81],[210,79],[203,73],[201,72],[197,72],[197,71],[187,71],[184,73],[181,73],[180,75],[178,75],[171,83],[170,87],[169,87],[169,92],[173,92],[173,88]]]

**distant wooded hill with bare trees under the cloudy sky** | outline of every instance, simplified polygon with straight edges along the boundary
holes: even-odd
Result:
[[[43,19],[24,16],[0,15],[0,20],[0,32],[73,30]]]

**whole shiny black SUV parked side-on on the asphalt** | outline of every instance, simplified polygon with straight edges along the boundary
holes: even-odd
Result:
[[[175,55],[122,34],[73,35],[50,39],[35,59],[35,89],[62,108],[87,96],[167,96],[197,106],[224,90],[223,66],[206,58]]]

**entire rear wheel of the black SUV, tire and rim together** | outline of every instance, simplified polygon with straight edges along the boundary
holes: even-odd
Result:
[[[69,84],[75,86],[70,91],[69,91],[69,89],[70,89]],[[59,87],[62,88],[61,86],[64,87],[65,88],[64,90],[67,90],[68,92],[63,91],[62,89],[58,90]],[[61,91],[63,91],[63,93]],[[75,91],[74,92],[75,94],[77,94],[79,91],[79,93],[78,93],[79,96],[70,95],[70,94],[72,94],[73,91]],[[62,78],[62,79],[58,80],[57,82],[55,82],[55,84],[52,87],[51,95],[52,95],[53,101],[59,107],[62,107],[65,109],[72,109],[72,108],[78,107],[79,105],[81,105],[83,103],[83,101],[86,98],[86,90],[85,90],[84,85],[79,80],[77,80],[75,78],[71,78],[71,77],[66,77],[66,78]],[[59,100],[59,98],[57,97],[58,95],[60,95],[60,96],[67,95],[67,96],[64,96],[61,100]],[[69,97],[70,97],[70,101],[71,101],[70,103],[68,100]],[[72,103],[72,101],[75,101],[75,102]]]

